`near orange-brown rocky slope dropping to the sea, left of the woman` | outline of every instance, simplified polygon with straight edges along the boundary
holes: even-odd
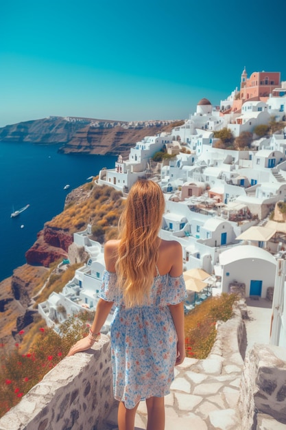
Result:
[[[45,223],[36,242],[27,250],[27,264],[13,271],[12,277],[0,283],[0,345],[12,347],[21,343],[19,331],[29,331],[37,311],[34,299],[41,299],[39,291],[47,281],[51,263],[63,258],[82,264],[87,255],[73,246],[73,232],[86,228],[87,223],[97,227],[95,240],[104,240],[106,234],[117,235],[117,223],[123,203],[121,192],[108,186],[86,183],[69,194],[64,211]],[[111,238],[111,236],[109,237]],[[68,256],[69,251],[69,256]],[[66,272],[65,272],[66,273]],[[53,291],[53,286],[48,292]],[[36,297],[38,295],[38,297]],[[34,298],[34,299],[33,299]]]

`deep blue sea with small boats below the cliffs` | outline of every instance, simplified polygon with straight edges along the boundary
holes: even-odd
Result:
[[[117,157],[60,154],[60,146],[0,142],[0,281],[25,264],[25,252],[45,222],[62,212],[67,193],[115,166]]]

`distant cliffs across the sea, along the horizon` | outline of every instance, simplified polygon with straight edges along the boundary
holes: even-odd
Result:
[[[0,142],[62,144],[60,152],[128,155],[147,135],[170,132],[178,122],[123,122],[80,117],[48,117],[0,128]]]

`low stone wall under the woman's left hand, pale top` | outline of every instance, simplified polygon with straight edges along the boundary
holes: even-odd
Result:
[[[110,340],[67,357],[0,419],[0,430],[103,430],[114,406]]]

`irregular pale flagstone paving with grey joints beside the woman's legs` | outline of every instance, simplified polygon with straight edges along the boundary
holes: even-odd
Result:
[[[165,430],[242,430],[237,411],[241,363],[229,363],[222,374],[222,360],[185,359],[176,367],[171,393],[165,397]],[[147,424],[145,402],[137,409],[135,428]],[[117,409],[110,414],[108,429],[117,430]]]

